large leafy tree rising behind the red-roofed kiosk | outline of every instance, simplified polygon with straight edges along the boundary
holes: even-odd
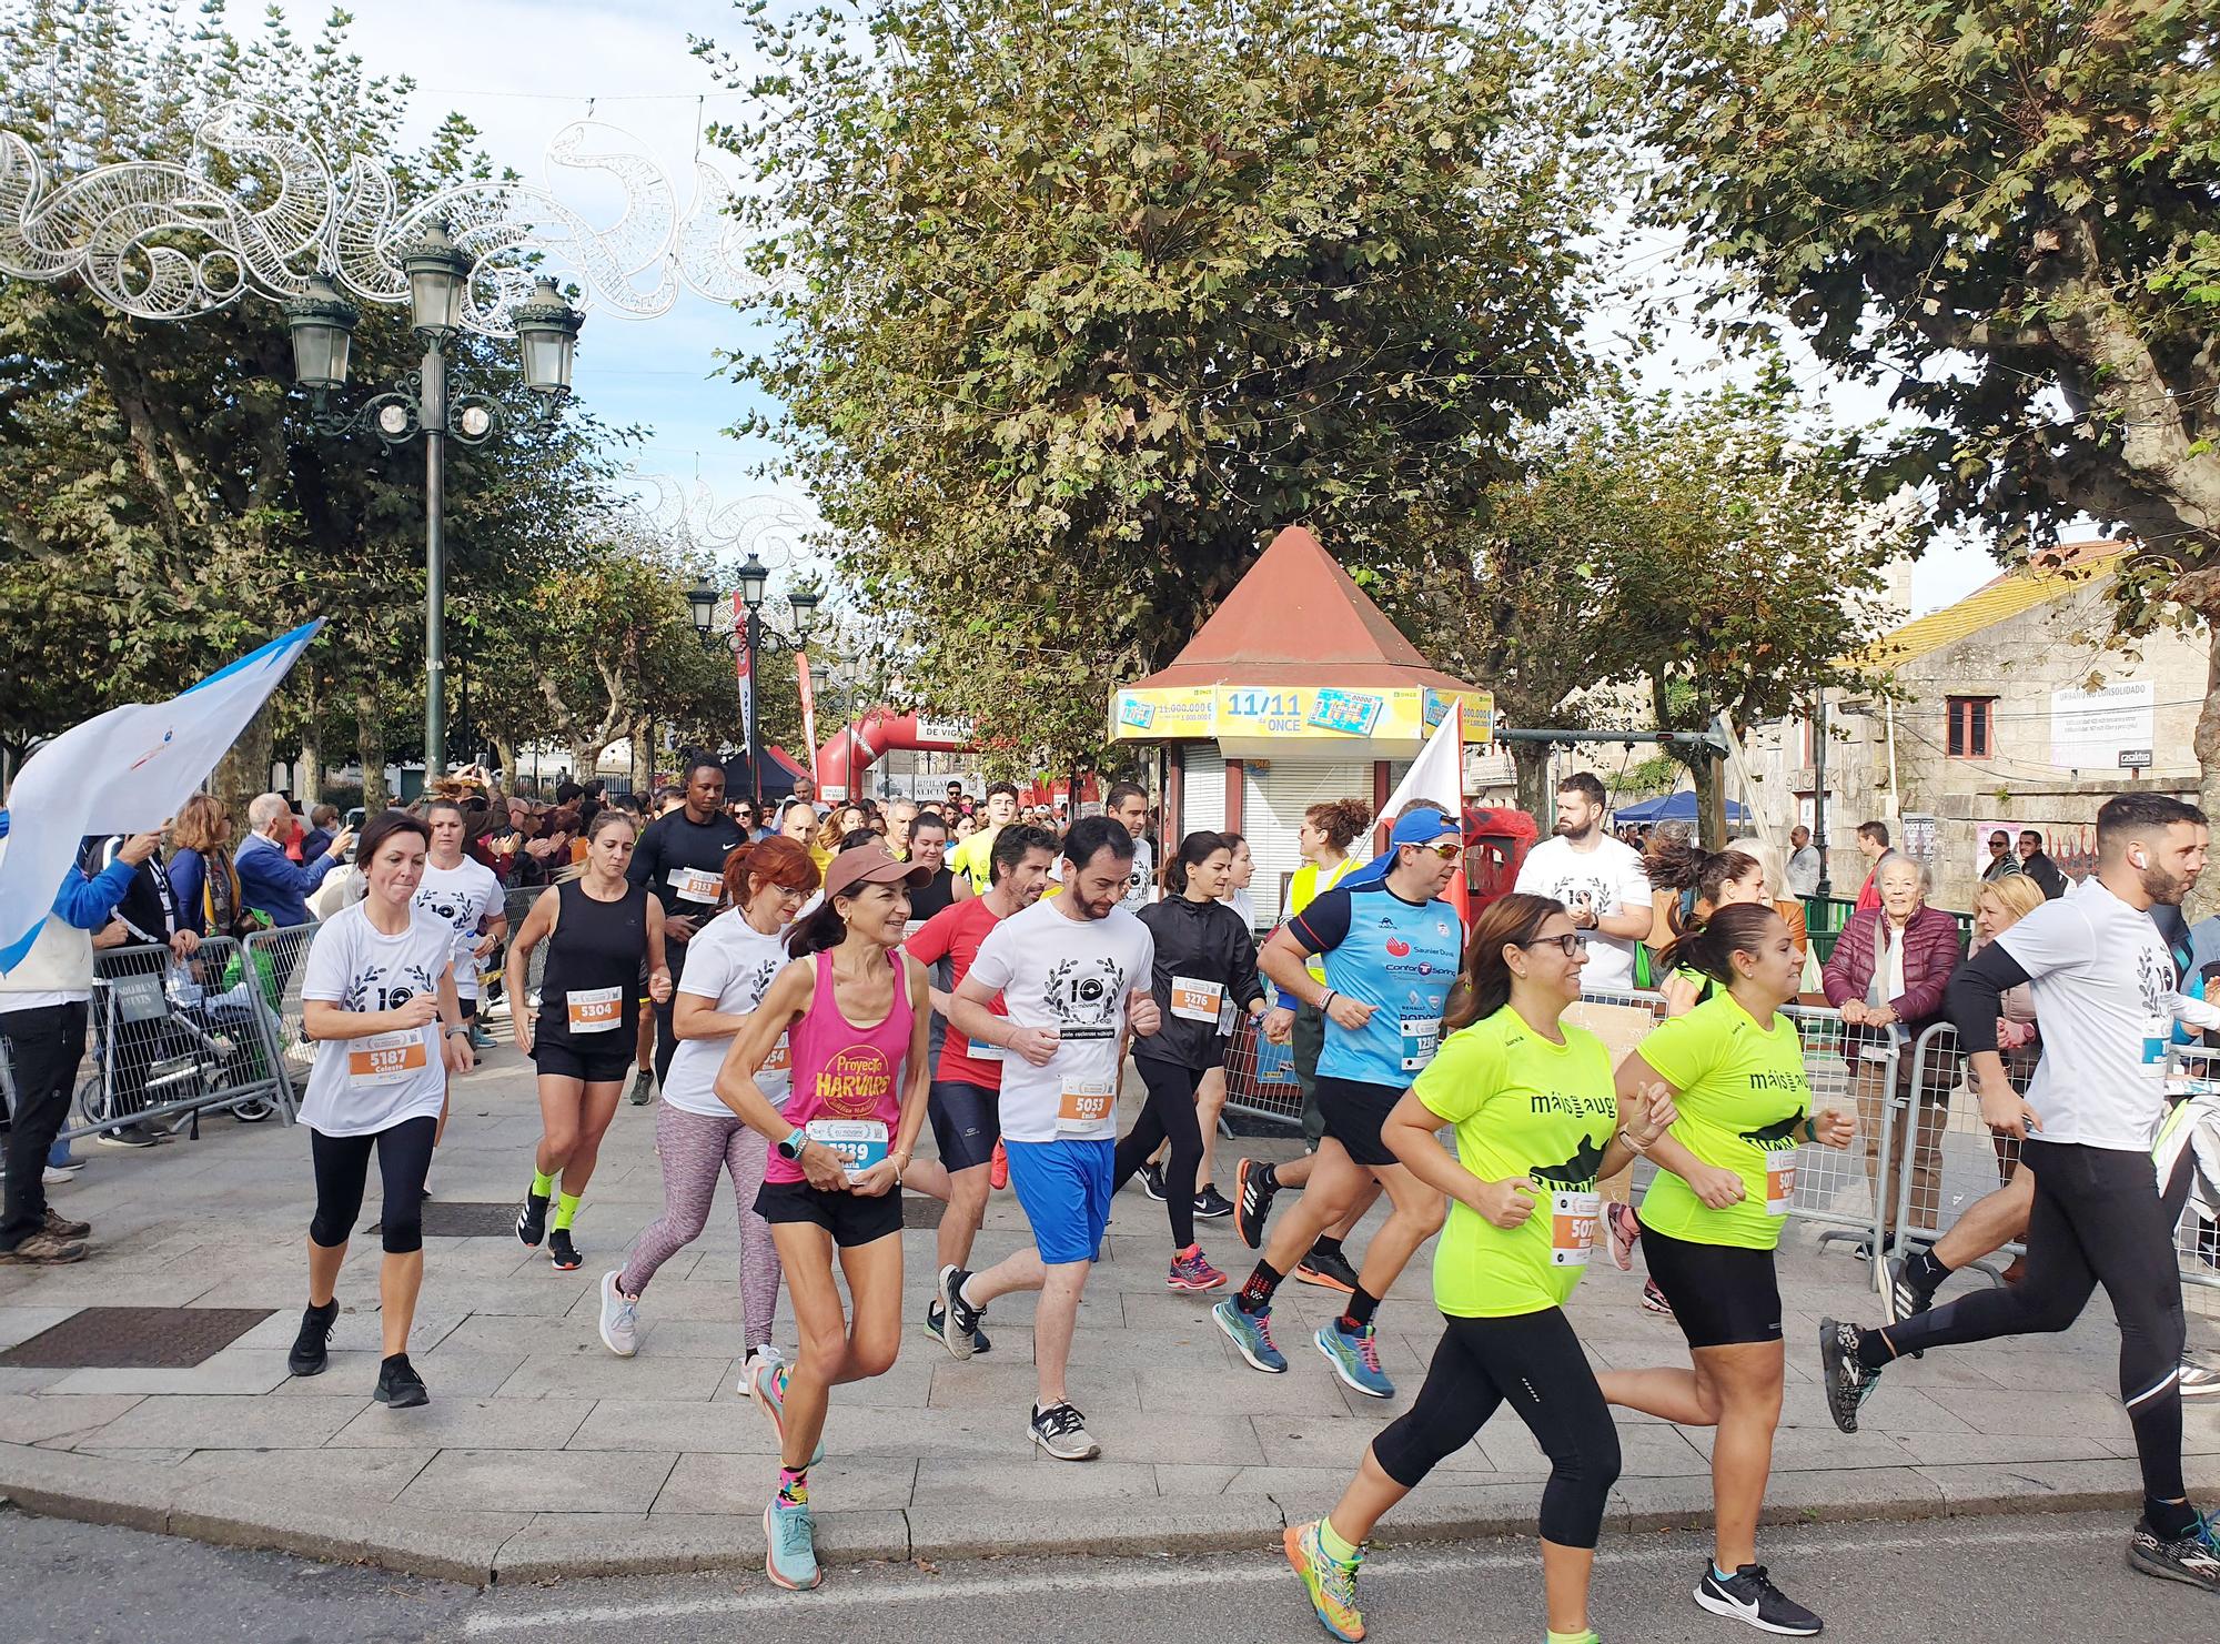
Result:
[[[717,131],[777,275],[741,427],[921,698],[1061,766],[1281,524],[1394,560],[1476,504],[1576,375],[1596,67],[1552,22],[850,0],[699,47],[766,109]]]

